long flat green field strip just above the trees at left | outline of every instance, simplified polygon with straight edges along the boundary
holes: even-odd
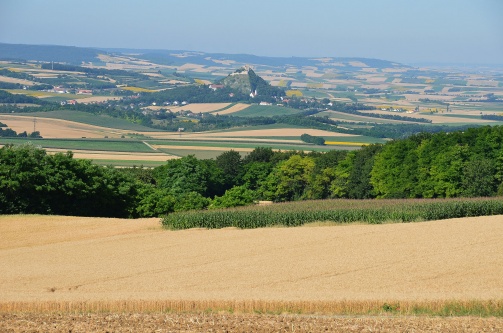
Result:
[[[25,144],[31,142],[42,148],[68,150],[100,150],[116,152],[154,152],[141,141],[136,140],[105,140],[105,139],[31,139],[31,138],[0,138],[0,144]]]

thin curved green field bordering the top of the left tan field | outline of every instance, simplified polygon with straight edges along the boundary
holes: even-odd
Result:
[[[131,130],[131,131],[140,131],[140,132],[154,132],[159,131],[150,127],[138,125],[132,122],[129,122],[125,119],[113,118],[109,116],[103,115],[95,115],[89,112],[81,112],[81,111],[70,111],[70,110],[58,110],[58,111],[48,111],[48,112],[30,112],[23,114],[16,114],[18,116],[26,116],[26,117],[40,117],[40,118],[54,118],[54,119],[62,119],[69,120],[78,123],[101,126],[107,128],[116,128],[123,130]]]

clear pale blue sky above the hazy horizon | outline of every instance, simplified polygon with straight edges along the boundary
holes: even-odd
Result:
[[[0,0],[0,42],[503,64],[503,0]]]

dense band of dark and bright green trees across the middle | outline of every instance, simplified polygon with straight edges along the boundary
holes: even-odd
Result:
[[[30,145],[0,149],[2,214],[149,217],[256,200],[495,195],[503,195],[501,126],[421,133],[350,152],[259,147],[242,157],[231,150],[154,169],[97,166]]]

